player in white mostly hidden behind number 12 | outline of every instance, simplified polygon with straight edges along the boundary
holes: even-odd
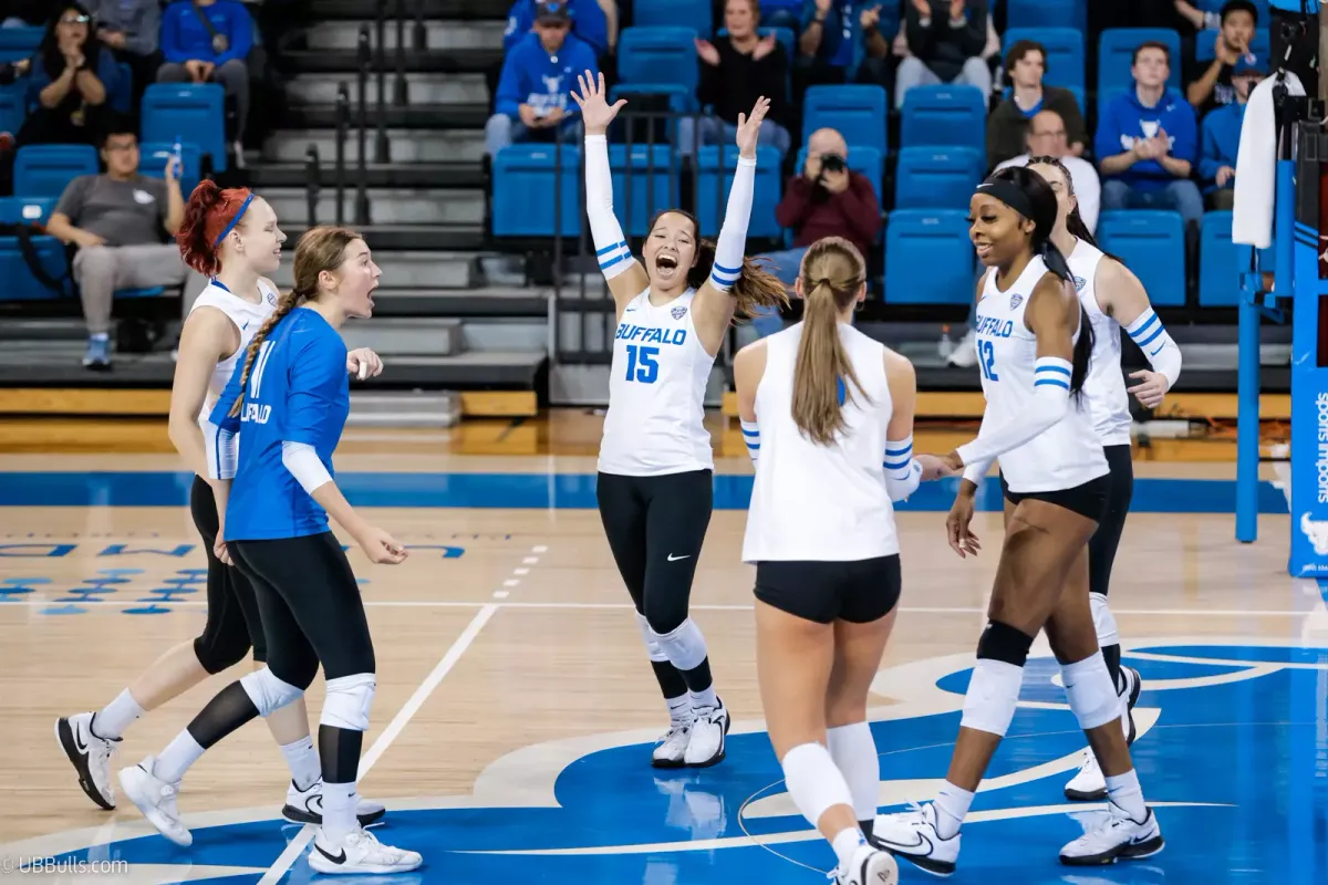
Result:
[[[1065,166],[1054,157],[1033,157],[1028,161],[1028,167],[1046,179],[1056,194],[1052,243],[1065,256],[1070,273],[1074,275],[1080,301],[1093,324],[1093,360],[1084,382],[1084,395],[1112,472],[1102,524],[1088,543],[1089,602],[1097,642],[1122,698],[1126,743],[1133,744],[1135,727],[1131,711],[1139,699],[1141,679],[1138,670],[1121,666],[1121,637],[1116,616],[1106,602],[1112,564],[1116,561],[1134,494],[1129,394],[1133,393],[1149,409],[1159,406],[1181,375],[1181,349],[1153,312],[1149,295],[1138,277],[1097,248],[1093,235],[1080,218],[1074,183]],[[1129,333],[1151,366],[1130,374],[1138,383],[1129,390],[1121,373],[1121,329]],[[1078,801],[1106,797],[1106,782],[1097,756],[1090,750],[1084,752],[1078,772],[1065,784],[1065,797]]]

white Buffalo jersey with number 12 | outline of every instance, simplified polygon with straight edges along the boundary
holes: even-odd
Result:
[[[977,366],[987,398],[984,422],[995,426],[1016,419],[1033,399],[1037,338],[1024,324],[1033,288],[1046,273],[1033,257],[1005,292],[996,287],[996,271],[987,275],[977,301]],[[1078,341],[1082,329],[1074,332]],[[1108,472],[1102,441],[1093,431],[1088,403],[1070,398],[1058,422],[999,458],[1001,474],[1013,492],[1049,492],[1082,486]]]

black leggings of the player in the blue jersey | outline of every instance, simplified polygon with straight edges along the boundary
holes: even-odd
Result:
[[[272,675],[308,689],[320,662],[327,679],[374,671],[360,586],[332,532],[228,548],[254,584]]]

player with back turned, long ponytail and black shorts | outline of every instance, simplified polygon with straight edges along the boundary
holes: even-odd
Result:
[[[834,847],[843,885],[899,877],[865,839],[880,782],[867,690],[899,601],[892,502],[923,479],[912,364],[853,328],[866,279],[857,247],[817,240],[794,283],[803,321],[733,361],[756,463],[742,560],[756,564],[761,701],[789,795]]]

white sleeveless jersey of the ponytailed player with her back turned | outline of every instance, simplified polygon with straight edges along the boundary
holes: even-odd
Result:
[[[756,391],[761,455],[748,511],[742,561],[857,561],[899,552],[886,488],[886,429],[894,414],[886,349],[849,324],[839,340],[862,385],[845,382],[845,427],[819,446],[793,421],[794,366],[803,324],[765,338]]]

